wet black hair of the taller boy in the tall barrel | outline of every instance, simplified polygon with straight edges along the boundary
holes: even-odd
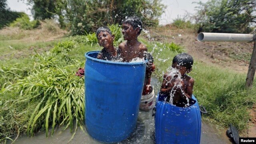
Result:
[[[140,32],[142,31],[142,22],[140,18],[138,17],[128,17],[122,22],[122,27],[128,24],[132,26],[132,29],[136,30],[136,36],[140,35]],[[124,27],[123,27],[124,30]]]

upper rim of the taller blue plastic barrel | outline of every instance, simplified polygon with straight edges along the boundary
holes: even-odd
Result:
[[[148,61],[148,60],[145,60],[145,61],[143,61],[143,62],[113,62],[113,61],[108,61],[108,60],[100,60],[100,59],[92,58],[92,57],[88,56],[88,54],[96,53],[96,52],[98,53],[98,52],[100,52],[100,51],[90,51],[90,52],[86,52],[86,53],[84,54],[84,56],[85,56],[86,58],[89,58],[89,59],[91,59],[91,60],[95,60],[95,61],[98,61],[98,62],[104,62],[104,63],[110,63],[110,64],[121,64],[121,65],[146,64],[146,62]]]

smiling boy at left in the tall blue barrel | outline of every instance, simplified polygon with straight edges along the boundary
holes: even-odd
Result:
[[[100,27],[96,31],[96,37],[98,44],[103,47],[103,49],[98,53],[97,58],[101,60],[115,60],[118,52],[114,48],[113,41],[115,40],[114,34],[108,27]]]

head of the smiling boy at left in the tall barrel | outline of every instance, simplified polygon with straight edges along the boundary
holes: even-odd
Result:
[[[100,27],[96,31],[96,37],[100,46],[104,48],[108,48],[109,46],[113,46],[113,41],[115,39],[114,34],[112,34],[111,30],[108,27]]]

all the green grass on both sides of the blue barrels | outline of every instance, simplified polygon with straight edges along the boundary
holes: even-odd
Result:
[[[56,124],[70,127],[75,134],[76,128],[83,125],[84,78],[75,76],[75,73],[84,67],[85,52],[102,49],[90,40],[94,39],[92,36],[32,45],[21,41],[20,45],[24,47],[19,50],[24,52],[32,46],[51,48],[48,52],[33,51],[32,56],[24,58],[0,60],[0,142],[13,135],[33,135],[41,129],[45,129],[48,136],[48,129]],[[152,52],[156,65],[153,76],[162,81],[172,58],[184,48],[174,43],[139,40]],[[11,41],[5,42],[5,46],[12,44]],[[220,126],[227,127],[232,123],[240,133],[245,133],[250,119],[248,112],[256,104],[255,80],[251,90],[245,89],[246,74],[194,61],[189,75],[195,79],[194,95],[208,111],[203,117],[218,122]],[[77,124],[74,127],[73,120]]]

